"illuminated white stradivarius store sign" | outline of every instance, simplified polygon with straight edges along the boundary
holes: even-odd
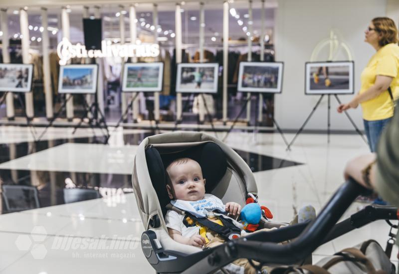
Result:
[[[86,50],[85,45],[72,45],[67,38],[63,38],[57,46],[59,64],[66,65],[71,58],[102,58],[102,57],[157,57],[160,54],[158,44],[112,44],[103,40],[101,50]]]

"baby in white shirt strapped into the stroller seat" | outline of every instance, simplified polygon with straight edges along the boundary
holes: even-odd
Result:
[[[225,205],[221,200],[211,194],[205,194],[205,179],[202,177],[200,164],[190,158],[180,158],[173,161],[166,169],[169,178],[166,186],[172,204],[185,204],[190,201],[190,205],[195,205],[196,201],[206,199],[215,209],[229,213],[233,218],[241,213],[241,206],[235,202],[228,202]],[[168,233],[176,242],[204,247],[210,239],[207,238],[209,231],[200,225],[188,226],[185,224],[185,215],[179,214],[174,210],[169,210],[166,214],[166,226]],[[211,221],[221,225],[217,218]],[[237,222],[235,222],[238,224]],[[239,225],[239,224],[238,224]],[[201,236],[202,235],[202,236]]]

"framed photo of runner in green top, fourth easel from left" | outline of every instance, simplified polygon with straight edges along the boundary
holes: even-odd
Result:
[[[216,93],[218,63],[178,64],[176,92]]]

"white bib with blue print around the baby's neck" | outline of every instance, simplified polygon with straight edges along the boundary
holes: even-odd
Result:
[[[198,201],[172,200],[171,204],[196,217],[207,217],[208,211],[226,212],[223,202],[212,194],[205,194],[203,199]]]

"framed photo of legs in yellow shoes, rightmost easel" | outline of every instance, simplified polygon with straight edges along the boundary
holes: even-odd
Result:
[[[305,63],[305,94],[353,94],[354,62]]]

